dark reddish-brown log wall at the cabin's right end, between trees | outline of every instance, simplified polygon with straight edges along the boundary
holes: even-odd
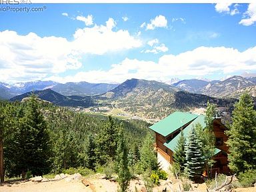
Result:
[[[215,146],[228,153],[229,147],[226,145],[226,141],[228,139],[227,135],[225,135],[226,129],[227,128],[220,123],[220,120],[215,119],[215,121],[213,121],[213,132],[216,137]]]

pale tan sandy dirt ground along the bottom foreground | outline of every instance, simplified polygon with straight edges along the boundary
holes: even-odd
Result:
[[[109,181],[104,179],[103,175],[95,174],[91,177],[85,177],[79,180],[67,180],[62,179],[60,181],[48,181],[48,182],[32,182],[32,181],[20,181],[14,183],[4,183],[0,185],[0,192],[115,192],[117,191],[117,182]],[[203,184],[192,184],[193,191],[205,192],[206,185]],[[176,191],[179,189],[179,183],[175,180],[161,181],[160,186],[156,186],[153,192],[163,191]],[[145,186],[140,178],[134,179],[130,183],[130,191],[145,192]],[[248,188],[237,188],[234,189],[236,192],[255,192],[256,187]]]

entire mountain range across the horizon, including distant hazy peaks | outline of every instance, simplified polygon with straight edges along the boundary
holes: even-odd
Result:
[[[55,105],[86,107],[89,111],[115,111],[116,114],[133,115],[147,119],[161,119],[175,110],[189,111],[205,108],[207,101],[216,103],[221,113],[231,113],[233,104],[243,91],[249,91],[255,99],[256,77],[233,76],[224,81],[182,80],[172,85],[158,81],[129,79],[120,85],[107,83],[55,83],[35,81],[30,83],[0,84],[0,90],[8,97],[22,101],[31,94]],[[51,88],[51,89],[50,89]],[[8,89],[11,91],[8,92]],[[87,96],[85,96],[87,95]],[[255,99],[256,101],[256,99]]]

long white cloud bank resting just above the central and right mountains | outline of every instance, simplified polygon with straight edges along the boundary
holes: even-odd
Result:
[[[52,78],[61,82],[121,83],[131,78],[167,81],[169,77],[179,75],[195,77],[212,73],[230,75],[236,71],[256,70],[255,51],[256,47],[243,52],[227,47],[198,47],[179,55],[163,55],[158,62],[126,58],[121,63],[112,65],[108,71],[79,72],[72,77]]]

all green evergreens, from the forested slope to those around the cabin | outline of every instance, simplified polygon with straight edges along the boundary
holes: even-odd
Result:
[[[198,124],[187,138],[181,134],[171,166],[176,177],[195,181],[213,165],[215,111],[216,105],[208,102],[205,129]],[[229,136],[229,168],[244,186],[256,182],[255,117],[253,100],[244,93],[234,105],[232,123],[225,132]],[[105,171],[106,178],[116,173],[120,191],[127,191],[134,175],[142,175],[150,191],[153,183],[167,179],[167,173],[159,169],[149,126],[145,121],[71,111],[35,95],[23,102],[1,101],[0,181],[87,169]]]

